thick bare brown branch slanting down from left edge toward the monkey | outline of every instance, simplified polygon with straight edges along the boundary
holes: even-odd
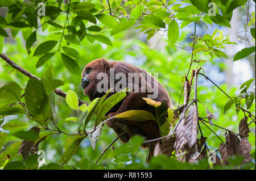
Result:
[[[41,80],[40,78],[36,77],[35,75],[31,74],[29,71],[23,69],[21,66],[17,65],[14,61],[12,61],[9,57],[7,57],[5,54],[1,54],[0,53],[0,57],[7,62],[7,64],[11,65],[14,69],[20,71],[22,74],[26,75],[27,77],[31,78],[34,77],[36,79],[38,79],[39,81]],[[63,92],[60,89],[55,89],[55,94],[65,98],[67,96],[67,93]],[[82,100],[79,99],[79,106],[81,106],[82,104],[86,104],[85,102],[83,102]],[[88,104],[86,104],[88,105]]]

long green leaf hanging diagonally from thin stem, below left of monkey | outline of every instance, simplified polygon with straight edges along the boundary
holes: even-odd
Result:
[[[75,154],[77,148],[79,148],[79,145],[84,137],[81,136],[69,136],[68,139],[65,142],[65,152],[60,158],[61,165],[66,165],[69,160],[72,158],[73,154]]]

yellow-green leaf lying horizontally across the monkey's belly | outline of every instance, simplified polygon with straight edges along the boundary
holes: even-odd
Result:
[[[155,117],[152,115],[151,112],[144,111],[144,110],[130,110],[126,112],[119,113],[114,117],[118,117],[123,120],[127,121],[148,121],[148,120],[155,120]]]

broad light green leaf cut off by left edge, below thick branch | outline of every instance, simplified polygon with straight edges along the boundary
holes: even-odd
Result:
[[[7,83],[0,88],[0,107],[8,106],[20,100],[21,88],[16,82]]]

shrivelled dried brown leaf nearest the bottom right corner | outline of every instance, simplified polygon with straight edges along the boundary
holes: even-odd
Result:
[[[237,154],[243,156],[243,163],[247,163],[251,161],[250,151],[251,151],[251,144],[249,143],[246,137],[242,137],[238,147]]]

